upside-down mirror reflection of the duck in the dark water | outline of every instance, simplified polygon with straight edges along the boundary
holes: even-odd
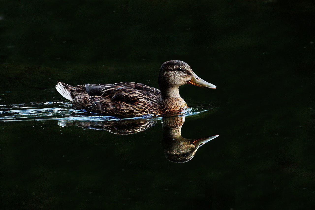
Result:
[[[144,131],[157,122],[156,119],[118,120],[118,121],[59,121],[61,127],[75,125],[81,128],[106,130],[114,134],[127,135]],[[190,161],[198,148],[219,135],[199,139],[185,139],[181,136],[184,116],[162,119],[163,150],[166,158],[175,163]]]

